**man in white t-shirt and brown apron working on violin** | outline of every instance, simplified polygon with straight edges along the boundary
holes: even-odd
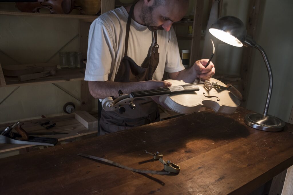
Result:
[[[188,0],[139,0],[129,7],[120,7],[98,17],[88,39],[85,80],[96,99],[170,87],[161,81],[166,71],[171,79],[194,82],[207,80],[214,74],[207,59],[196,61],[184,69],[172,24],[181,20]],[[160,51],[160,52],[159,52]],[[157,103],[158,98],[153,97]],[[159,121],[157,103],[151,98],[135,99],[136,109],[125,113],[102,110],[100,133],[106,134]],[[163,105],[164,106],[164,105]]]

